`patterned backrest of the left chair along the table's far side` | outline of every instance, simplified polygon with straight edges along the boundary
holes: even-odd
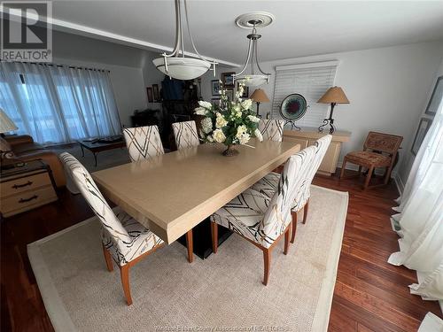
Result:
[[[124,128],[131,161],[144,160],[165,153],[157,126]]]

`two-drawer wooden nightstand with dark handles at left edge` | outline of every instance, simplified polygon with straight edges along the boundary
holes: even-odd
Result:
[[[4,217],[34,209],[58,199],[51,168],[42,160],[2,170],[0,212]]]

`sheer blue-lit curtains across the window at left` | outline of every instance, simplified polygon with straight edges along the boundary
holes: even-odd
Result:
[[[68,143],[120,134],[109,73],[68,66],[0,63],[0,107],[19,134]]]

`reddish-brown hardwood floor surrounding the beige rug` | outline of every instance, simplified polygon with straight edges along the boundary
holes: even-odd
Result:
[[[442,317],[437,302],[409,294],[408,284],[416,282],[413,271],[386,263],[398,251],[397,235],[389,222],[393,199],[398,196],[395,185],[362,192],[361,182],[355,180],[317,176],[314,183],[349,192],[329,330],[416,331],[427,312]],[[27,259],[27,243],[90,216],[82,197],[64,190],[57,203],[2,220],[2,331],[53,330]]]

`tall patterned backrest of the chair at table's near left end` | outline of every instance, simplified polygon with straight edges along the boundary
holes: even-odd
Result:
[[[111,238],[113,244],[119,248],[120,252],[126,255],[130,248],[128,248],[125,243],[131,243],[131,237],[121,225],[120,220],[115,216],[115,213],[106,202],[105,197],[103,197],[100,190],[98,190],[96,183],[92,180],[87,169],[67,152],[61,153],[59,158],[64,164],[65,169],[69,170],[82,196],[96,214],[98,220],[100,220],[103,231],[108,233],[109,236],[106,237]]]

